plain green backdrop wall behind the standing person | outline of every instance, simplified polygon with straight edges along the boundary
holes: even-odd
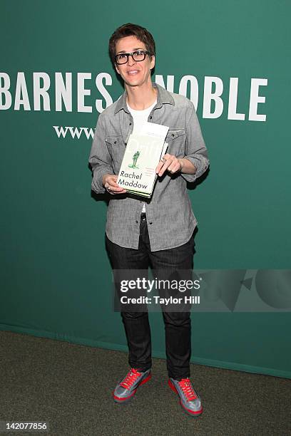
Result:
[[[1,329],[126,350],[112,311],[106,202],[91,197],[91,137],[71,135],[95,128],[96,99],[105,108],[121,95],[107,46],[126,22],[153,33],[153,80],[167,85],[168,77],[178,93],[192,76],[193,100],[198,85],[211,168],[189,191],[199,223],[195,266],[290,267],[290,1],[1,0],[0,7]],[[71,73],[61,110],[56,73],[63,80]],[[48,80],[39,107],[38,83]],[[244,120],[232,119],[235,99]],[[253,120],[250,105],[265,120]],[[164,357],[160,313],[150,319],[154,355]],[[193,362],[291,377],[290,313],[193,313],[192,320]]]

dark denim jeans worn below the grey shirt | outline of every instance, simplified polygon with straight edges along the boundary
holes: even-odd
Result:
[[[138,250],[113,244],[106,237],[106,249],[113,269],[148,269],[155,273],[167,269],[193,269],[194,234],[190,240],[173,249],[150,251],[145,214],[141,217]],[[128,363],[132,368],[145,371],[151,367],[151,339],[148,311],[121,312],[128,341]],[[190,312],[163,311],[165,324],[165,351],[168,375],[175,380],[190,377],[191,322]]]

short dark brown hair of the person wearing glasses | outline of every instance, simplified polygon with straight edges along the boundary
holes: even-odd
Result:
[[[116,43],[119,39],[126,36],[136,36],[139,41],[145,44],[150,55],[155,56],[155,41],[150,32],[146,28],[138,26],[138,24],[128,23],[116,28],[116,31],[113,32],[109,39],[109,56],[113,64],[115,63]]]

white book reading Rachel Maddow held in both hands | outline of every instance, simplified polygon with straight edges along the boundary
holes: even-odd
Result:
[[[141,133],[129,136],[117,178],[120,187],[131,194],[151,197],[158,177],[155,168],[168,147],[167,133],[166,126],[146,123]]]

